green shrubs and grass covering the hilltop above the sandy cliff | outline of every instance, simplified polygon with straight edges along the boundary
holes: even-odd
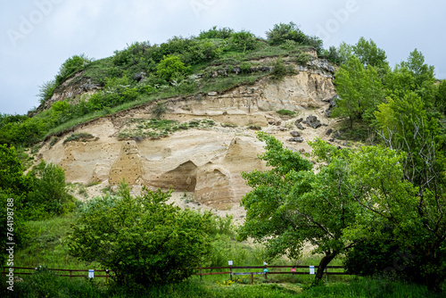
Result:
[[[294,55],[306,63],[309,56],[301,52],[306,47],[323,54],[322,41],[305,35],[293,22],[276,25],[267,36],[264,40],[249,31],[214,27],[197,37],[172,37],[161,45],[136,42],[96,61],[85,54],[74,55],[63,62],[53,81],[40,87],[42,104],[37,114],[32,118],[0,115],[0,144],[29,146],[55,132],[138,104],[249,85],[268,75],[259,70],[261,62],[249,62],[262,57]],[[281,60],[268,66],[273,67],[274,79],[293,73]],[[73,77],[79,71],[82,74]],[[70,85],[82,83],[101,90],[89,98],[49,103],[67,79]],[[43,111],[44,106],[51,107]]]

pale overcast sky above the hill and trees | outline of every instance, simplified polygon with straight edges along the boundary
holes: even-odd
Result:
[[[37,107],[38,89],[74,54],[100,59],[135,41],[160,44],[212,26],[265,37],[290,21],[324,47],[373,39],[388,61],[415,48],[446,79],[445,0],[0,0],[0,112]]]

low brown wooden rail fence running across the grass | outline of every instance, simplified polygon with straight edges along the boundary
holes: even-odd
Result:
[[[233,276],[238,276],[238,275],[251,275],[251,283],[254,280],[254,275],[264,275],[265,279],[268,279],[268,275],[269,274],[292,274],[292,275],[310,275],[310,274],[314,274],[311,273],[311,269],[310,267],[312,267],[314,269],[314,271],[316,271],[318,269],[318,266],[294,266],[294,265],[264,265],[264,266],[227,266],[227,267],[198,267],[195,268],[197,270],[197,272],[199,273],[195,273],[194,275],[196,276],[200,276],[200,280],[202,280],[202,276],[206,276],[206,275],[219,275],[219,274],[228,274],[229,278],[232,280]],[[31,275],[32,272],[17,272],[16,270],[35,270],[36,268],[27,268],[27,267],[4,267],[3,268],[3,275],[6,275],[9,270],[7,269],[14,269],[14,275]],[[225,271],[219,271],[219,272],[202,272],[202,270],[216,270],[216,269],[228,269]],[[249,272],[235,272],[233,271],[234,269],[262,269],[261,272],[252,272],[252,270],[250,270]],[[269,269],[279,269],[279,271],[274,270],[274,271],[269,271]],[[289,269],[289,270],[284,270],[284,269]],[[344,269],[343,266],[326,266],[326,271],[324,272],[327,276],[329,275],[350,275],[349,273],[346,272],[334,272],[334,271],[328,271],[328,269]],[[79,275],[76,274],[78,272],[88,272],[87,269],[48,269],[51,271],[59,271],[59,272],[70,272],[70,274],[57,274],[60,277],[70,277],[70,279],[72,277],[88,277],[88,275]],[[73,272],[75,272],[75,274],[73,275]],[[114,277],[113,275],[111,275],[110,273],[113,272],[112,270],[95,270],[96,272],[105,272],[105,275],[95,275],[94,277],[105,277],[105,281],[108,281],[109,277]]]

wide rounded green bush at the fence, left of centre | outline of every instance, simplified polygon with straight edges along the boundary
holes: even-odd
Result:
[[[145,190],[132,197],[120,185],[114,202],[95,202],[69,235],[70,254],[99,261],[126,285],[174,283],[190,277],[211,250],[211,213],[182,211],[166,203],[170,192]]]

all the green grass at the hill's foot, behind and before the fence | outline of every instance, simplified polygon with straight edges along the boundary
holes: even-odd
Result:
[[[77,219],[75,213],[54,219],[29,221],[27,223],[32,236],[22,248],[15,252],[16,267],[36,268],[42,265],[53,269],[101,269],[98,263],[78,261],[68,254],[66,235],[70,225]],[[231,232],[232,233],[232,232]],[[234,266],[261,265],[263,249],[245,242],[234,240],[234,234],[214,236],[211,264],[204,266],[227,266],[227,261],[234,261]],[[269,265],[317,265],[320,257],[310,256],[299,261],[278,259]],[[342,265],[342,260],[335,259],[330,265]],[[216,269],[215,271],[221,271]],[[224,269],[223,269],[224,270]],[[285,269],[270,269],[282,271]],[[233,272],[261,271],[261,269],[233,269]],[[211,272],[211,270],[203,270]],[[104,279],[55,277],[50,273],[38,273],[22,276],[23,282],[15,283],[14,292],[6,292],[4,281],[1,282],[0,296],[8,293],[12,297],[444,297],[425,288],[399,281],[371,279],[352,276],[329,276],[324,278],[323,286],[310,287],[314,276],[310,275],[263,275],[235,276],[229,281],[229,275],[194,276],[185,282],[168,286],[150,286],[137,290],[122,286],[105,284]],[[3,277],[2,277],[3,278]],[[11,295],[12,294],[12,295]]]

